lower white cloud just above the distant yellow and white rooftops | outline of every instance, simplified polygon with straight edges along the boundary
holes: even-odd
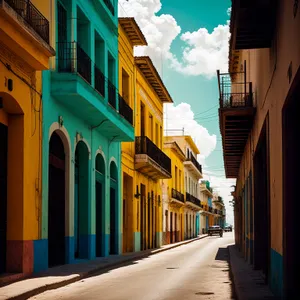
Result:
[[[198,160],[205,163],[205,158],[216,148],[217,137],[210,135],[208,130],[194,120],[194,113],[188,103],[164,105],[164,128],[165,135],[181,135],[184,128],[185,135],[191,135],[200,150]]]

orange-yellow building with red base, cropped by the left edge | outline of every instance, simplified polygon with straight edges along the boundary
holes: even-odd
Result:
[[[32,273],[41,235],[41,70],[50,1],[0,2],[0,274]]]

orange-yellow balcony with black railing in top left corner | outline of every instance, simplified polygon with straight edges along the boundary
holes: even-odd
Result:
[[[48,69],[55,55],[49,21],[30,0],[0,0],[0,24],[0,43],[34,70]]]

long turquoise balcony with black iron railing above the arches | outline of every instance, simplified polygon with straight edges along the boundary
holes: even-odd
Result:
[[[72,113],[114,141],[133,141],[134,129],[116,86],[78,42],[57,45],[51,94]]]

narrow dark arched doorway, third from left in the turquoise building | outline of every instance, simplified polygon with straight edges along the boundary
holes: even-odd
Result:
[[[103,156],[98,154],[95,161],[96,186],[96,256],[104,256],[104,222],[105,222],[105,162]]]

